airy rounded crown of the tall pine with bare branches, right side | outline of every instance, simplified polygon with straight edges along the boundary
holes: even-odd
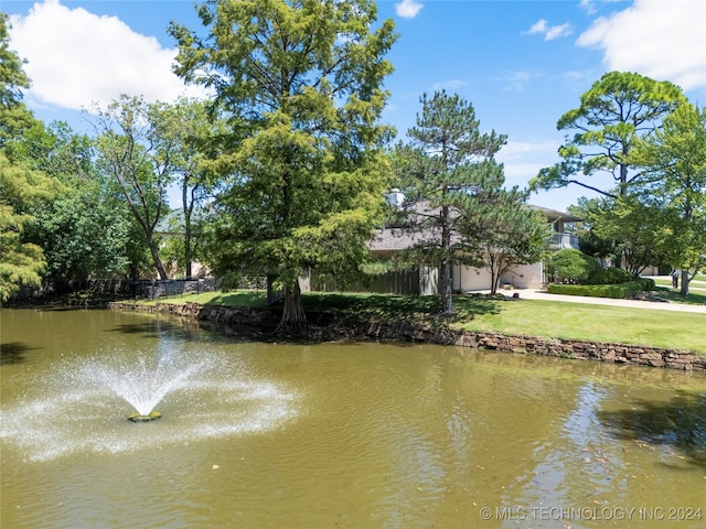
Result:
[[[625,195],[637,177],[630,151],[637,139],[662,122],[680,101],[682,90],[666,80],[629,72],[609,72],[581,95],[578,108],[559,118],[567,133],[559,148],[561,161],[543,169],[531,182],[534,190],[579,185],[612,197]],[[599,175],[608,175],[605,184]]]

